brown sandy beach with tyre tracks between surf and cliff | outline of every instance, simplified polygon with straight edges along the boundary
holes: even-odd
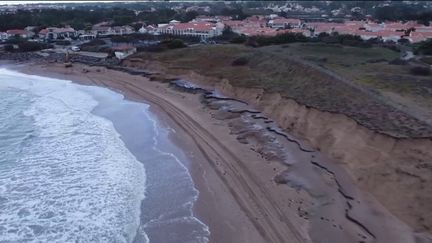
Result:
[[[40,64],[14,68],[107,87],[128,99],[149,103],[191,162],[187,166],[200,192],[194,210],[209,226],[211,242],[316,242],[323,237],[331,242],[417,240],[409,227],[306,143],[281,143],[281,151],[289,154],[292,164],[281,163],[264,151],[261,135],[253,136],[255,142],[240,142],[236,124],[218,119],[221,114],[204,106],[199,95],[104,67],[74,64],[65,69],[61,64]]]

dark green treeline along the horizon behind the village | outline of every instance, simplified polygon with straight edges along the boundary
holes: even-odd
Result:
[[[290,4],[295,1],[290,2]],[[303,7],[317,7],[319,14],[331,14],[338,9],[342,16],[351,15],[353,19],[365,19],[371,15],[378,21],[407,21],[415,20],[429,24],[432,21],[432,4],[419,1],[418,4],[406,2],[381,1],[298,1]],[[429,5],[428,5],[429,4]],[[253,14],[270,14],[267,6],[282,6],[281,2],[247,1],[247,2],[198,2],[198,3],[134,3],[134,4],[101,4],[101,5],[74,5],[66,9],[21,10],[15,14],[0,15],[0,31],[8,29],[22,29],[26,26],[65,26],[75,29],[89,29],[92,25],[102,21],[112,21],[113,25],[131,25],[143,21],[146,24],[165,23],[176,19],[188,22],[197,15],[223,15],[233,19],[244,19]],[[172,7],[175,6],[176,10]],[[195,6],[195,10],[186,11],[188,7]],[[207,10],[204,10],[205,7]],[[356,9],[355,11],[353,11]],[[296,16],[301,10],[280,12],[279,15]],[[304,15],[304,14],[303,14]],[[134,26],[139,28],[140,26]]]

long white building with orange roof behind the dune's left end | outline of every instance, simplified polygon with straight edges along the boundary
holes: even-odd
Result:
[[[222,34],[224,25],[222,23],[190,22],[159,24],[158,34],[196,36],[207,39]]]

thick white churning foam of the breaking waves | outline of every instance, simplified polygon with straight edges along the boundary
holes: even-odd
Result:
[[[0,242],[131,242],[145,170],[91,113],[96,100],[68,81],[0,69],[0,92],[12,88],[30,94],[35,129],[0,164]]]

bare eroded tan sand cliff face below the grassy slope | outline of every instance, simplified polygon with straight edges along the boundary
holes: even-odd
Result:
[[[394,138],[342,114],[306,107],[279,93],[216,85],[256,106],[291,134],[342,163],[358,185],[418,231],[432,230],[432,140]]]

